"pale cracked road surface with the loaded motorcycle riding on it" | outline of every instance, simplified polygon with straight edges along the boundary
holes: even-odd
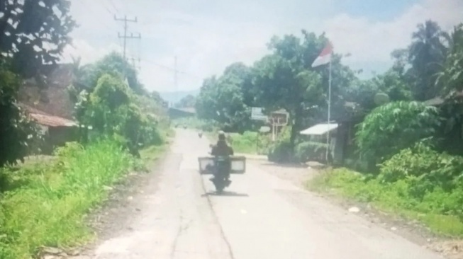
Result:
[[[433,252],[247,163],[223,195],[198,173],[208,142],[179,129],[157,190],[99,259],[437,259]]]

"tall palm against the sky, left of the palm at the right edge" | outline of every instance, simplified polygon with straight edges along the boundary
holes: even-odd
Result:
[[[434,21],[425,21],[418,25],[418,30],[412,35],[408,60],[412,65],[415,77],[413,92],[417,100],[428,100],[440,93],[441,86],[437,86],[437,72],[445,60],[448,39]]]

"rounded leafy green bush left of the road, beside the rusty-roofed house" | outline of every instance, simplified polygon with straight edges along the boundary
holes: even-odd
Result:
[[[118,76],[102,75],[91,93],[82,92],[77,101],[77,119],[91,125],[96,138],[101,135],[120,135],[130,152],[163,143],[159,119],[137,104],[140,97]],[[146,101],[146,100],[145,100]],[[146,104],[145,104],[146,105]],[[93,134],[95,134],[93,132]]]

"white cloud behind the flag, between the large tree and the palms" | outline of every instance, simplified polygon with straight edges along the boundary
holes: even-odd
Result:
[[[349,64],[389,63],[393,50],[410,44],[418,23],[431,19],[450,30],[463,22],[462,14],[461,0],[425,0],[388,22],[340,14],[325,22],[325,30],[336,52],[352,54],[346,59]]]

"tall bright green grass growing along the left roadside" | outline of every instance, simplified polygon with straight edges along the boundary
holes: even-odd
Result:
[[[91,207],[107,197],[133,158],[116,142],[69,143],[55,157],[21,168],[1,168],[0,258],[31,258],[40,246],[76,246],[92,237]]]

